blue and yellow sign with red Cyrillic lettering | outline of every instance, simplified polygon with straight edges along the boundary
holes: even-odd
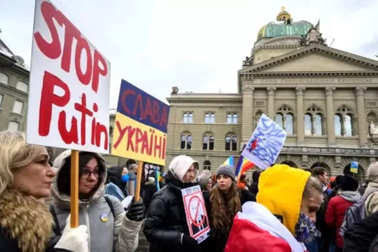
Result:
[[[121,82],[112,155],[165,165],[169,106]]]

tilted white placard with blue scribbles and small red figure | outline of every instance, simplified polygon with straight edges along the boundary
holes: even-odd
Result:
[[[286,131],[262,114],[242,155],[265,170],[278,158],[285,139]]]

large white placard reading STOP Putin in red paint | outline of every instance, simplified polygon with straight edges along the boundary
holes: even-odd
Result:
[[[36,0],[27,142],[109,153],[110,62],[48,0]]]

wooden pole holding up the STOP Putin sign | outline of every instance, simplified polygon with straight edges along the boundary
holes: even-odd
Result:
[[[71,228],[79,226],[79,151],[71,150]]]

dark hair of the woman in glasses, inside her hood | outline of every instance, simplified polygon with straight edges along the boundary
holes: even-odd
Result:
[[[83,174],[84,167],[88,163],[89,160],[92,158],[95,158],[98,162],[98,172],[104,173],[105,167],[103,167],[101,160],[92,152],[81,152],[79,154],[79,178]],[[58,176],[58,191],[67,195],[71,194],[71,156],[68,156],[64,160],[64,164],[62,168],[59,171]],[[99,188],[100,184],[102,183],[102,180],[104,178],[98,178],[97,185],[92,189],[92,191],[89,193],[89,195],[79,195],[79,198],[89,198],[95,193],[95,191]]]

